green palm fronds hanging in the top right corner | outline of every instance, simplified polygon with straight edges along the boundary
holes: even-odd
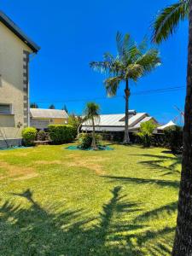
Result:
[[[160,44],[175,32],[178,22],[189,15],[189,0],[181,0],[174,3],[160,12],[154,21],[153,42]]]

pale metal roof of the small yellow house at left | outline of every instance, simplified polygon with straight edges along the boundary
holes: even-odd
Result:
[[[30,108],[31,117],[34,119],[67,119],[68,114],[65,110]]]

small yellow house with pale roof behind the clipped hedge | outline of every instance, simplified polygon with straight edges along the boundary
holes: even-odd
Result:
[[[30,125],[38,130],[48,128],[48,125],[66,125],[68,114],[65,110],[30,108]]]

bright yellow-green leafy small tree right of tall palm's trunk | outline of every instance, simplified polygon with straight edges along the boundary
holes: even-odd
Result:
[[[137,135],[141,138],[144,147],[150,147],[155,127],[156,125],[151,120],[141,123],[140,131]]]

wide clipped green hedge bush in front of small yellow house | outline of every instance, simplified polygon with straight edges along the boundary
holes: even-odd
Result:
[[[76,137],[76,129],[72,125],[49,125],[49,138],[53,144],[71,143]]]

